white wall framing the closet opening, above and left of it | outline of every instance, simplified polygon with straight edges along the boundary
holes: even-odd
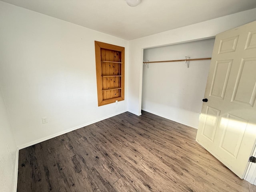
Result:
[[[137,115],[141,114],[144,48],[214,37],[220,32],[254,20],[256,8],[129,41],[128,110]]]

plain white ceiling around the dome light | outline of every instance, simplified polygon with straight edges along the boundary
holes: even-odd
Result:
[[[132,40],[256,8],[256,0],[2,0],[86,28]]]

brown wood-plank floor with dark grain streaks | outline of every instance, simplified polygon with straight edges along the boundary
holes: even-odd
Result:
[[[252,192],[196,129],[125,112],[19,152],[18,192]]]

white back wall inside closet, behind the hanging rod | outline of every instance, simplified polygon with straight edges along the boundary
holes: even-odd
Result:
[[[214,39],[144,49],[149,61],[208,58]],[[210,60],[151,63],[143,67],[142,110],[198,128]]]

